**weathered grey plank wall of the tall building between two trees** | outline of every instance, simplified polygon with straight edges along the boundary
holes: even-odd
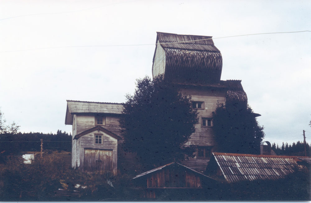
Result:
[[[181,89],[186,95],[191,95],[192,101],[203,101],[204,109],[197,110],[199,123],[195,125],[195,132],[185,145],[215,146],[214,132],[212,127],[202,127],[202,118],[212,118],[213,111],[216,110],[217,103],[225,103],[225,91],[214,90],[212,88],[191,88]],[[216,136],[216,135],[215,135]],[[204,172],[209,159],[189,158],[182,162],[183,165],[193,170]]]

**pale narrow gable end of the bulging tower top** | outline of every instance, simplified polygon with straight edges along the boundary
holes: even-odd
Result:
[[[159,40],[157,41],[159,43]],[[164,74],[165,72],[165,51],[161,45],[157,45],[156,55],[152,66],[152,75],[153,77],[158,76],[159,74]]]

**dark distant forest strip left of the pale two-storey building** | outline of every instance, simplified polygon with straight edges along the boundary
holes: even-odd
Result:
[[[72,136],[66,131],[57,130],[56,134],[48,133],[17,133],[0,134],[0,153],[16,154],[25,151],[40,151],[41,139],[43,139],[43,149],[71,151]]]

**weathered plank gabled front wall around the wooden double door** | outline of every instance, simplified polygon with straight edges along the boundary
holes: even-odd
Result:
[[[102,144],[95,144],[94,143],[94,134],[98,135],[101,134],[102,135]],[[117,173],[117,150],[118,150],[118,140],[111,137],[110,135],[105,134],[102,131],[94,131],[92,133],[83,135],[82,137],[80,137],[78,139],[78,147],[77,147],[77,153],[79,153],[79,157],[77,158],[77,165],[80,166],[81,170],[84,170],[84,161],[85,159],[85,154],[87,154],[87,156],[89,156],[89,153],[86,153],[87,150],[91,150],[91,149],[96,149],[96,150],[111,150],[112,151],[112,172],[114,174]],[[102,151],[104,152],[104,151]],[[100,153],[100,152],[98,152]],[[100,155],[99,155],[100,156]],[[95,160],[102,160],[102,162],[109,162],[110,163],[110,158],[107,159],[106,154],[102,153],[102,157],[99,157],[99,159],[95,159]],[[96,161],[93,162],[91,161],[91,163],[95,163],[96,165]],[[87,162],[86,164],[90,164],[90,162]],[[96,167],[96,166],[95,166]],[[91,170],[93,170],[93,168],[91,168]],[[104,170],[104,169],[103,169]]]

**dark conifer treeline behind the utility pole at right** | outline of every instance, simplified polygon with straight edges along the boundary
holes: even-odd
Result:
[[[272,149],[276,155],[287,155],[287,156],[304,156],[304,143],[303,142],[293,142],[293,144],[288,144],[287,142],[282,144],[280,147],[278,144],[272,144]],[[311,155],[310,145],[306,144],[307,156]]]

